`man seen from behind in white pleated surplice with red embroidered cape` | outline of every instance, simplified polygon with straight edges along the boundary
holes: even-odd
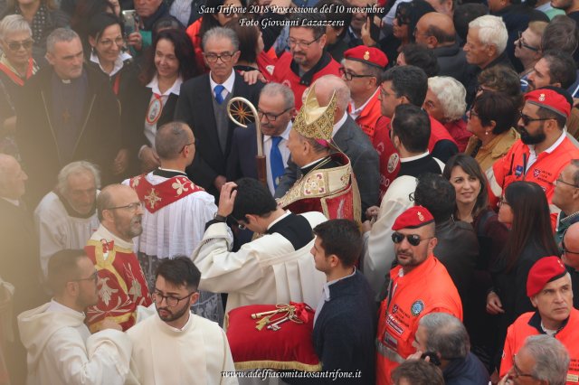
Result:
[[[149,291],[155,288],[155,272],[165,258],[189,256],[203,239],[205,223],[214,219],[214,197],[192,183],[185,168],[195,157],[195,136],[182,122],[158,128],[155,150],[161,165],[146,175],[128,179],[144,202],[143,232],[136,239],[138,261]],[[223,320],[221,296],[205,291],[193,305],[196,315],[215,322]]]

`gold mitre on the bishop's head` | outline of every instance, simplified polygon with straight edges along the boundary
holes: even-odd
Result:
[[[334,129],[336,103],[336,91],[334,91],[329,104],[326,107],[320,107],[316,99],[316,86],[311,86],[292,127],[302,136],[330,140]]]

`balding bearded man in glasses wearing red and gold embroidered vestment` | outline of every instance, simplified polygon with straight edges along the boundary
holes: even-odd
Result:
[[[134,253],[133,238],[143,232],[143,207],[129,186],[110,184],[97,198],[100,227],[85,251],[99,272],[99,302],[87,309],[92,333],[107,321],[127,330],[137,320],[137,306],[151,305],[147,281]]]

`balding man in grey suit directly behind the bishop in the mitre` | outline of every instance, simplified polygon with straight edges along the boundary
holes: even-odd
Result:
[[[344,80],[335,75],[325,75],[316,80],[314,84],[316,85],[316,98],[321,107],[329,104],[334,91],[336,91],[337,106],[332,139],[352,163],[362,200],[362,212],[364,213],[368,207],[378,204],[380,182],[378,153],[368,136],[346,112],[350,102],[350,89],[347,88]],[[289,161],[280,185],[275,191],[275,197],[280,198],[288,192],[299,176],[301,176],[299,167]]]

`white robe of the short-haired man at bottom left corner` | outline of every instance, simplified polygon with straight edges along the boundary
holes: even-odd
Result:
[[[18,327],[28,385],[117,385],[128,375],[128,336],[112,329],[90,334],[83,313],[54,300],[18,315]]]

